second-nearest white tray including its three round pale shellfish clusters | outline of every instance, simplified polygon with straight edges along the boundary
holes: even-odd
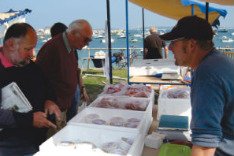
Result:
[[[88,107],[73,117],[68,124],[133,133],[143,132],[146,135],[150,120],[146,121],[145,113],[142,111]]]

